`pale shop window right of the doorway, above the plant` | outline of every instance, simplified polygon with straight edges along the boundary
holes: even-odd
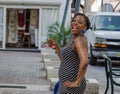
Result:
[[[42,10],[42,43],[47,40],[48,26],[58,20],[58,8],[43,8]]]

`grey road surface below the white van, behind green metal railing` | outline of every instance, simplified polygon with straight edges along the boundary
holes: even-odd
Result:
[[[104,94],[104,91],[106,89],[106,76],[105,76],[105,68],[104,68],[104,62],[99,61],[97,62],[97,65],[89,65],[86,77],[96,79],[99,82],[99,92],[100,94]],[[116,63],[114,65],[117,65]],[[118,64],[120,66],[120,63]],[[108,90],[108,94],[111,94],[110,92],[111,87]],[[114,94],[119,94],[120,87],[115,86],[115,92]]]

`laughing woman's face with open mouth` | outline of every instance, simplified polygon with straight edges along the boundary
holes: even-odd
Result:
[[[82,15],[77,15],[71,23],[71,33],[80,35],[83,34],[83,29],[86,29],[86,19]]]

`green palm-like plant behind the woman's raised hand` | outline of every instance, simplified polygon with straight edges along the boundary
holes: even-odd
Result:
[[[48,37],[55,40],[60,47],[69,42],[71,28],[65,28],[64,24],[55,22],[48,27]]]

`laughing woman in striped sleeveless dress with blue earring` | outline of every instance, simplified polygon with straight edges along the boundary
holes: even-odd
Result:
[[[55,49],[61,59],[59,68],[59,94],[84,94],[85,73],[88,66],[87,40],[84,33],[90,26],[87,16],[78,13],[71,22],[72,43],[59,48],[51,39],[48,45]]]

